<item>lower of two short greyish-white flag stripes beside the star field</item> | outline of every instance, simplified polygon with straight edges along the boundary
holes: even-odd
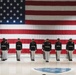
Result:
[[[76,20],[76,16],[25,15],[26,20]]]

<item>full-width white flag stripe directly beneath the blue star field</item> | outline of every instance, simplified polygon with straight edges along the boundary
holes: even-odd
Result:
[[[23,30],[76,30],[76,25],[0,25],[0,29]]]

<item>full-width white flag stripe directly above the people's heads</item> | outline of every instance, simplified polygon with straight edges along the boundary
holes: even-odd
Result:
[[[6,39],[51,39],[56,40],[57,38],[60,38],[61,40],[68,40],[69,38],[72,38],[73,40],[76,40],[76,35],[40,35],[40,34],[0,34],[0,39],[6,38]]]

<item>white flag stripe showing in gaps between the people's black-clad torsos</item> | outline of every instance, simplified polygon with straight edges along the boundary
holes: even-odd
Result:
[[[23,44],[23,49],[29,49],[29,44]],[[10,44],[10,49],[11,48],[16,48],[16,44]],[[42,49],[42,44],[37,44],[37,49]],[[55,44],[52,44],[52,49],[55,49]],[[66,49],[66,44],[62,45],[62,49]],[[76,45],[75,45],[75,49],[76,49]]]

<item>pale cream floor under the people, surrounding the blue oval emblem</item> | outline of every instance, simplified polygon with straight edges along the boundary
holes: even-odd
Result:
[[[21,61],[16,61],[15,54],[9,54],[8,60],[0,61],[0,75],[42,75],[34,68],[70,68],[66,73],[46,73],[46,75],[76,75],[76,55],[73,61],[68,61],[66,55],[61,55],[61,61],[56,61],[55,55],[50,55],[49,63],[46,63],[42,55],[36,55],[36,60],[31,61],[29,54],[21,54]]]

